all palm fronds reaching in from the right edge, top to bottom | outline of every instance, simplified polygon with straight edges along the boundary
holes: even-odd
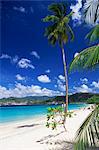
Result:
[[[86,0],[84,5],[85,22],[95,25],[87,34],[89,42],[99,41],[99,2],[98,0]],[[81,51],[70,64],[69,71],[94,68],[99,65],[99,45],[91,46]],[[97,146],[99,141],[99,105],[86,118],[77,131],[75,138],[75,150],[86,150],[88,147]],[[99,146],[99,143],[98,143]]]

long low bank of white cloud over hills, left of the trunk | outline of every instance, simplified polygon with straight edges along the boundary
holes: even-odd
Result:
[[[63,95],[63,93],[47,88],[41,88],[38,85],[24,86],[20,83],[17,83],[13,89],[7,89],[6,87],[0,86],[0,98],[56,95]]]

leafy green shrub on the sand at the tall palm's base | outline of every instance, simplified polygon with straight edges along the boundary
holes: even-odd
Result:
[[[73,112],[67,112],[66,117],[72,117]],[[56,129],[57,126],[63,125],[64,127],[64,109],[61,106],[58,107],[49,107],[47,111],[47,128],[52,128],[52,130]]]

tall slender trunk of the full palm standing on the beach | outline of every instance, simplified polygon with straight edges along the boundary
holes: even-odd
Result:
[[[64,75],[65,75],[65,83],[66,83],[66,100],[65,100],[65,109],[64,109],[64,123],[66,121],[66,113],[68,111],[68,75],[67,75],[67,66],[66,66],[66,59],[65,59],[65,51],[64,47],[62,46],[62,58],[63,58],[63,65],[64,65]]]

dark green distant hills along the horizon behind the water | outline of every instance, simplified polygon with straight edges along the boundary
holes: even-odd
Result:
[[[90,102],[92,98],[99,100],[99,94],[92,93],[75,93],[69,95],[69,103],[76,102]],[[91,99],[91,100],[90,100]],[[14,105],[38,105],[38,104],[62,104],[65,102],[65,96],[47,97],[47,96],[29,96],[24,98],[3,98],[0,99],[0,106],[14,106]]]

